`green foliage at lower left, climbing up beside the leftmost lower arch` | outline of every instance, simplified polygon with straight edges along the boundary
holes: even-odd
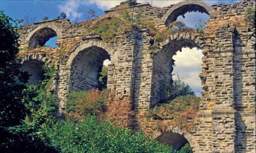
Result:
[[[22,107],[12,109],[11,113],[17,111],[22,115],[16,119],[15,125],[3,125],[3,142],[0,144],[3,152],[54,152],[44,134],[44,129],[55,122],[57,110],[55,96],[47,92],[50,78],[55,73],[52,67],[45,65],[46,79],[38,86],[28,86],[19,93],[18,102]]]

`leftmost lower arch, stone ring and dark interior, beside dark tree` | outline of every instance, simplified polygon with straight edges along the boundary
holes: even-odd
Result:
[[[44,79],[44,63],[46,61],[51,62],[44,55],[39,54],[25,55],[19,59],[19,70],[27,71],[30,75],[27,85],[38,85],[39,81]]]

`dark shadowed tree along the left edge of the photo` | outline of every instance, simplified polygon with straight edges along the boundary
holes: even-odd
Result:
[[[0,11],[0,131],[3,132],[5,127],[17,125],[19,120],[25,117],[25,112],[21,103],[21,92],[25,85],[15,81],[19,74],[15,62],[18,53],[18,27],[11,17]],[[1,138],[4,138],[1,135]]]

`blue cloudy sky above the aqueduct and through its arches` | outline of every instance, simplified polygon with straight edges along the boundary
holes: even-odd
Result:
[[[30,15],[30,17],[35,17],[35,22],[42,21],[44,16],[48,16],[49,19],[55,19],[61,12],[65,12],[67,14],[67,18],[69,18],[71,22],[74,22],[76,17],[78,17],[79,21],[84,21],[89,9],[93,9],[98,16],[101,16],[104,14],[105,10],[120,4],[121,1],[0,0],[0,10],[4,10],[5,14],[13,19],[23,19],[25,16]],[[148,2],[153,4],[153,6],[165,7],[170,4],[176,4],[180,1],[181,0],[149,0]],[[145,0],[138,0],[138,2],[143,3]],[[215,5],[236,3],[238,0],[205,0],[205,2],[209,5]],[[180,16],[177,20],[183,21],[187,26],[195,28],[195,24],[199,22],[199,19],[206,21],[209,19],[209,16],[206,13],[202,14],[199,12],[191,12],[186,13],[185,18]],[[54,44],[56,40],[57,38],[52,38],[45,45],[57,47]],[[173,73],[178,72],[181,77],[184,77],[183,80],[187,82],[194,91],[196,91],[197,96],[200,96],[200,92],[202,91],[201,81],[198,77],[198,74],[201,72],[202,56],[202,50],[197,50],[196,48],[193,48],[192,50],[189,48],[182,48],[182,52],[178,52],[177,55],[173,57],[173,59],[176,60],[176,66],[174,67]]]

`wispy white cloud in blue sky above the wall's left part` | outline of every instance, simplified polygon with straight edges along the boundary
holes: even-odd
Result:
[[[60,12],[64,12],[67,15],[67,18],[74,20],[76,17],[81,17],[82,12],[77,12],[79,5],[83,4],[84,1],[65,1],[63,5],[58,5]]]

